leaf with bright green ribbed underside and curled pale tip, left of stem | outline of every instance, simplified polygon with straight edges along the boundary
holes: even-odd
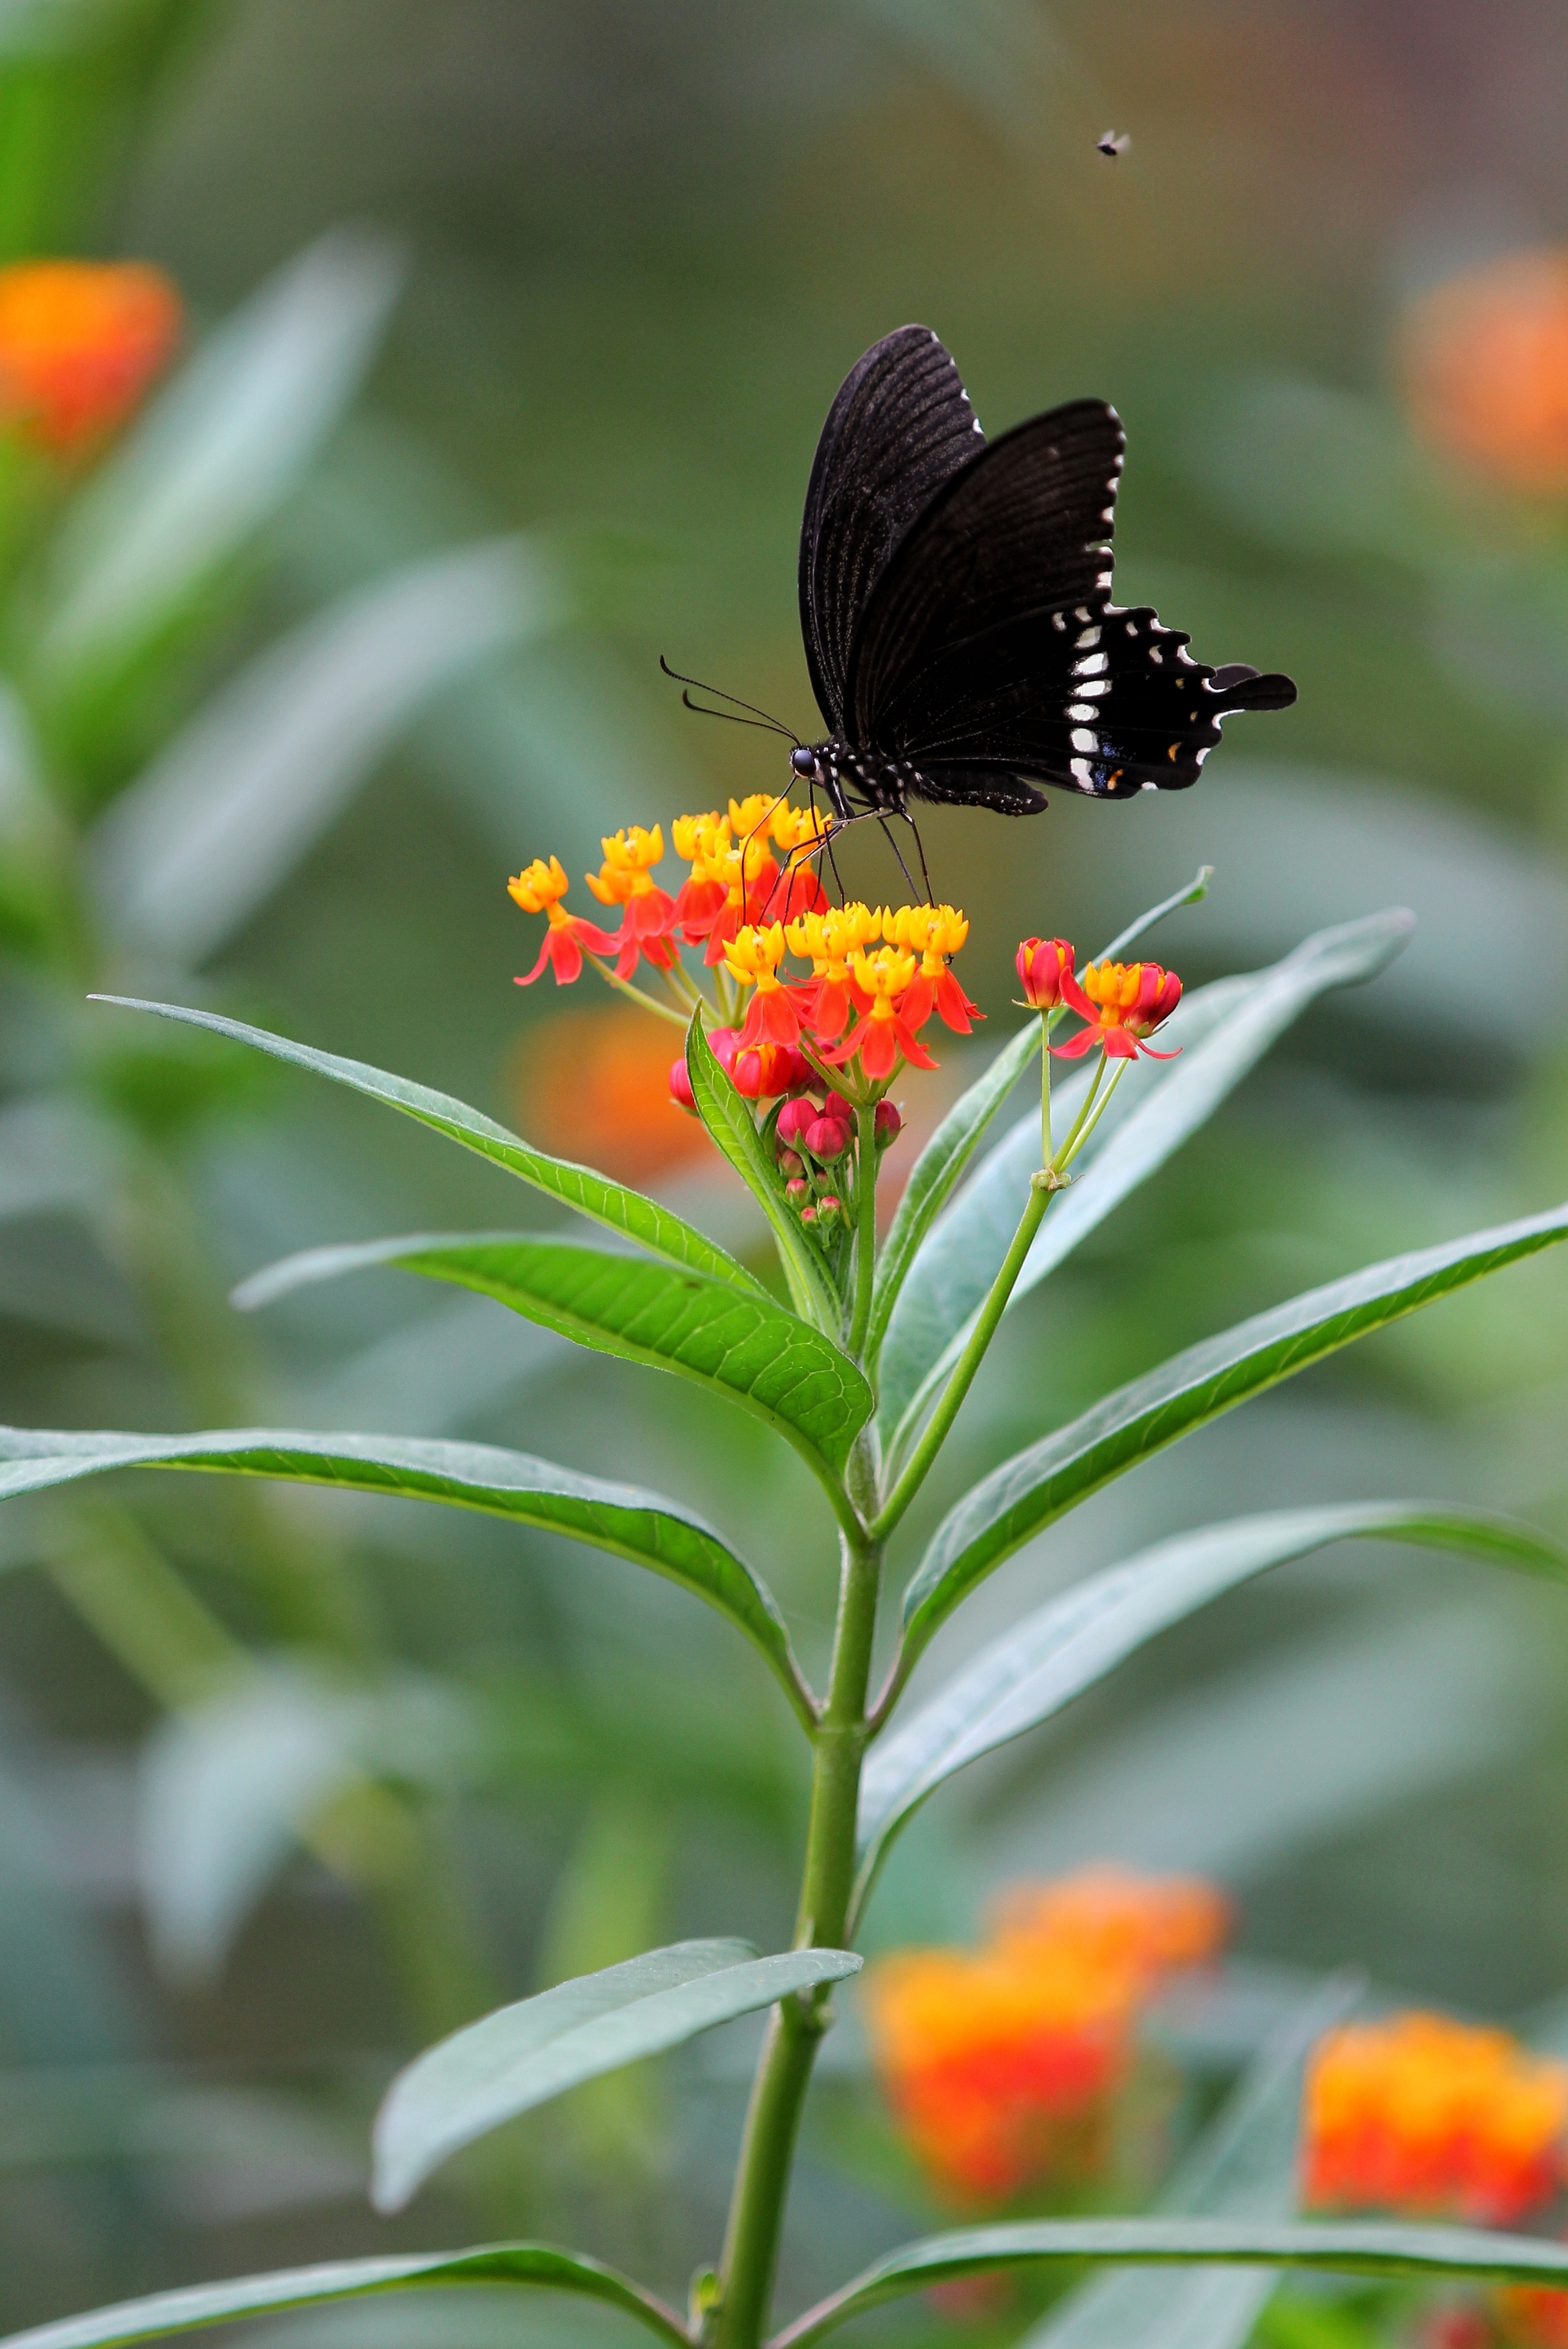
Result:
[[[453,1280],[580,1346],[716,1388],[833,1470],[843,1470],[871,1419],[871,1388],[854,1362],[798,1313],[725,1280],[603,1247],[509,1231],[310,1247],[256,1273],[235,1290],[235,1304],[268,1304],[371,1264]]]

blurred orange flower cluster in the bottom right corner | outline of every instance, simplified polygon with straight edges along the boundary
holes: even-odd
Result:
[[[1303,2114],[1305,2196],[1512,2227],[1563,2180],[1568,2067],[1500,2030],[1404,2013],[1319,2041]]]

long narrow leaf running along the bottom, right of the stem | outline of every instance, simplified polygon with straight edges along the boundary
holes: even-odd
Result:
[[[1221,2217],[1026,2220],[965,2227],[906,2243],[831,2300],[775,2333],[772,2349],[807,2349],[850,2316],[960,2276],[1101,2260],[1113,2267],[1310,2267],[1336,2276],[1479,2276],[1486,2283],[1568,2283],[1568,2243],[1481,2227],[1268,2225]],[[0,2349],[7,2344],[0,2342]]]

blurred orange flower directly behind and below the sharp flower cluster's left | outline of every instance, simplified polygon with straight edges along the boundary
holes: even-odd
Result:
[[[711,1158],[707,1128],[669,1099],[671,1050],[681,1050],[676,1029],[636,1003],[542,1019],[512,1062],[521,1130],[622,1182],[655,1182]]]

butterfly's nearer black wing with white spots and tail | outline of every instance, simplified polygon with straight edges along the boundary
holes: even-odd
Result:
[[[897,547],[850,653],[847,721],[852,740],[920,770],[920,796],[1012,810],[1021,775],[1096,799],[1181,789],[1221,716],[1296,700],[1289,677],[1211,669],[1148,606],[1110,601],[1122,446],[1103,402],[1035,416]]]

